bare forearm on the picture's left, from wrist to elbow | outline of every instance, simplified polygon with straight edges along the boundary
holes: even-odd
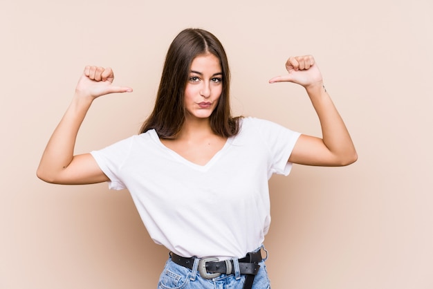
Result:
[[[75,140],[81,124],[91,106],[91,97],[75,93],[62,120],[50,137],[37,169],[37,176],[52,182],[73,160]]]

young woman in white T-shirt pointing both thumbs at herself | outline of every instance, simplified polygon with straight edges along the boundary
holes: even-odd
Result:
[[[186,29],[169,47],[154,111],[140,134],[74,156],[93,100],[132,91],[113,85],[110,68],[86,66],[37,176],[49,183],[127,188],[151,238],[170,251],[159,288],[270,288],[261,257],[270,225],[270,176],[287,175],[292,163],[343,166],[357,158],[315,59],[290,57],[286,68],[288,74],[270,83],[304,86],[322,138],[233,118],[223,46],[210,32]]]

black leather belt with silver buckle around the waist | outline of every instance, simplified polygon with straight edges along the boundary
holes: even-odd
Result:
[[[246,257],[238,259],[240,273],[247,275],[243,289],[252,287],[254,277],[259,272],[260,265],[258,263],[262,260],[260,251],[250,252],[246,254]],[[181,257],[173,252],[170,252],[170,255],[174,263],[192,270],[196,258]],[[212,279],[221,274],[234,274],[234,264],[233,260],[218,261],[216,258],[204,258],[199,260],[198,270],[204,279]]]

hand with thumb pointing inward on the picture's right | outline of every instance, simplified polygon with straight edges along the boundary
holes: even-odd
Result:
[[[273,77],[269,83],[293,82],[305,88],[309,86],[323,86],[322,73],[312,55],[289,57],[286,62],[288,74]]]

